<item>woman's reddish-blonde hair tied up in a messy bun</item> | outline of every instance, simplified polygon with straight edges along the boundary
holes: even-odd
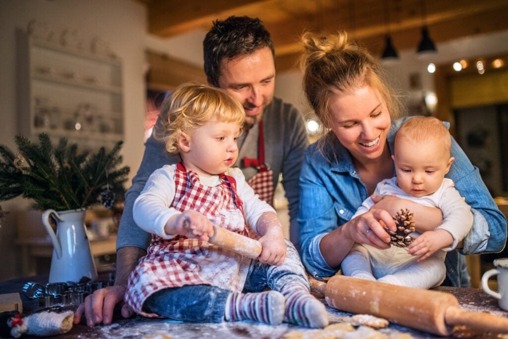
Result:
[[[329,101],[344,93],[369,85],[383,97],[392,118],[400,114],[399,98],[389,85],[383,69],[370,53],[347,41],[345,32],[302,36],[304,51],[300,59],[303,87],[310,105],[325,128],[330,128]]]

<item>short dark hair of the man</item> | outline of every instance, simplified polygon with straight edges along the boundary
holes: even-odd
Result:
[[[275,58],[272,38],[260,19],[230,16],[226,20],[215,20],[203,40],[208,81],[218,87],[220,62],[223,58],[231,60],[264,47],[269,47]]]

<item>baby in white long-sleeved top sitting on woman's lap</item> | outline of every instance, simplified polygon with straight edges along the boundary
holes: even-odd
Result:
[[[391,195],[437,207],[443,223],[423,232],[405,248],[391,246],[379,250],[366,244],[355,244],[341,264],[344,275],[377,280],[394,285],[429,289],[446,278],[445,251],[455,249],[472,227],[470,207],[444,178],[454,158],[450,157],[451,137],[442,122],[434,117],[414,117],[400,127],[395,137],[396,176],[377,184],[374,195]],[[374,205],[366,199],[355,214]],[[353,217],[354,218],[354,217]],[[418,226],[418,220],[416,220]]]

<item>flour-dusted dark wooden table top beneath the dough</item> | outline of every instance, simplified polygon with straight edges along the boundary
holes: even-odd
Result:
[[[22,293],[22,286],[27,281],[33,281],[44,284],[47,282],[47,276],[37,276],[30,279],[17,279],[0,283],[0,294],[18,292],[23,301],[23,310],[25,314],[37,311],[38,306],[33,299],[28,299]],[[508,318],[508,312],[502,311],[497,300],[487,295],[480,289],[473,288],[455,288],[438,287],[436,290],[453,294],[460,302],[463,310],[470,312],[487,312],[497,316]],[[325,303],[325,301],[323,300]],[[326,304],[326,303],[325,303]],[[330,317],[330,323],[343,322],[344,317],[350,317],[351,313],[341,312],[327,306]],[[130,319],[123,319],[119,312],[113,319],[111,325],[99,325],[96,327],[87,327],[84,323],[75,325],[71,331],[59,335],[59,338],[116,338],[116,337],[170,337],[174,339],[190,338],[281,338],[285,334],[293,331],[301,331],[304,337],[317,339],[318,332],[312,329],[302,328],[296,325],[282,324],[278,326],[269,326],[250,321],[223,322],[220,324],[207,323],[181,323],[167,319],[149,319],[136,316]],[[389,338],[407,339],[410,337],[419,338],[438,338],[433,334],[411,329],[408,327],[390,324],[388,328],[379,330]],[[403,335],[403,336],[401,336]],[[26,336],[23,336],[26,337]],[[493,333],[478,333],[467,328],[457,328],[452,337],[457,338],[500,338]],[[508,337],[508,336],[507,336]]]

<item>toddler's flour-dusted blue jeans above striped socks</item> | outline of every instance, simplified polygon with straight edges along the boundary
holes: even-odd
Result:
[[[267,287],[280,291],[292,282],[309,287],[295,246],[289,241],[286,241],[286,245],[286,258],[279,266],[268,265],[259,260],[252,261],[243,287],[244,293],[261,292]],[[230,290],[210,285],[168,288],[149,296],[143,304],[143,311],[179,321],[220,323],[224,320],[226,301],[230,293]]]

